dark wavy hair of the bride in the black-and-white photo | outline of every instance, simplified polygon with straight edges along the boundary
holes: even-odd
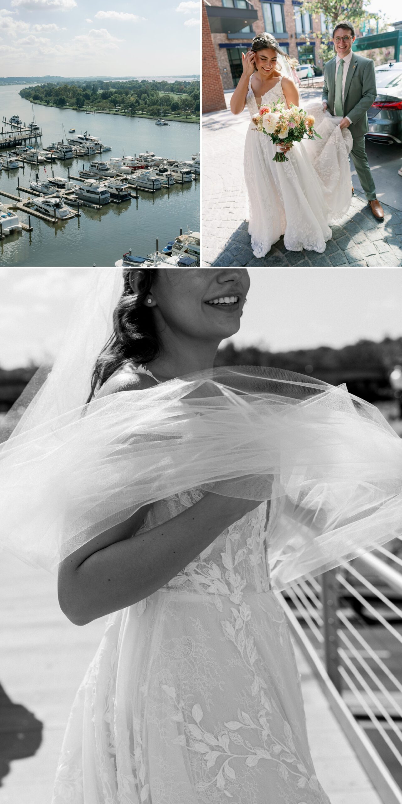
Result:
[[[132,271],[133,269],[123,269],[124,287],[113,312],[113,333],[96,360],[87,403],[125,363],[149,363],[158,356],[159,343],[154,317],[151,310],[143,304],[150,292],[156,269],[136,270],[137,293],[134,293],[130,282]]]

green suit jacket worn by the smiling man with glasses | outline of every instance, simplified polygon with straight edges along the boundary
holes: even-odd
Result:
[[[324,65],[322,100],[334,114],[336,56]],[[343,97],[343,117],[351,118],[349,131],[352,137],[363,137],[368,131],[367,109],[377,96],[374,62],[363,55],[352,53],[347,71]]]

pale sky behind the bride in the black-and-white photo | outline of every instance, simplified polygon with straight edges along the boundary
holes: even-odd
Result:
[[[0,269],[0,367],[52,359],[93,269]],[[99,269],[101,270],[101,269]],[[211,269],[214,270],[214,269]],[[399,269],[249,269],[232,341],[287,351],[402,336]]]

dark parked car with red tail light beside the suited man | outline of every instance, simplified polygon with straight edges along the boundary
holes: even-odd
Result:
[[[377,97],[367,112],[368,133],[372,142],[384,145],[402,143],[402,62],[375,68]]]

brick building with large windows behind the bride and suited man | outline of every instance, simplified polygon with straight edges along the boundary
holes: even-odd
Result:
[[[211,23],[211,41],[224,89],[236,86],[242,73],[241,54],[248,50],[254,36],[263,31],[272,33],[282,50],[300,64],[316,64],[322,68],[322,61],[316,54],[319,39],[314,34],[324,34],[326,41],[330,34],[323,14],[319,17],[301,14],[300,0],[207,0],[203,6],[203,14]],[[232,11],[232,27],[229,10]],[[219,14],[224,22],[217,32],[219,25],[215,21]],[[240,14],[246,18],[244,22],[250,20],[242,28],[239,27]],[[205,44],[203,34],[203,50]],[[203,111],[207,109],[203,107]]]

